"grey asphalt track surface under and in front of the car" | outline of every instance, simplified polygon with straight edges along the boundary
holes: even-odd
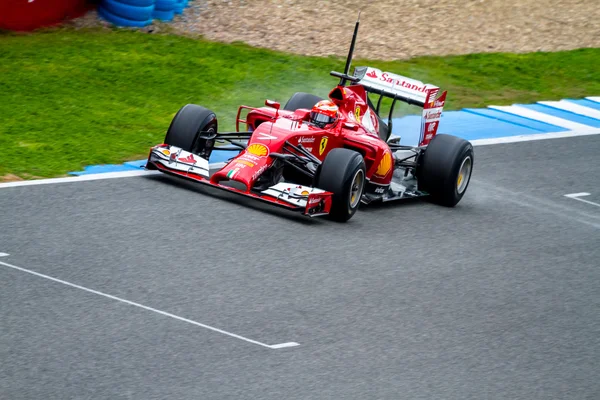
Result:
[[[454,209],[305,219],[160,176],[0,189],[2,399],[598,399],[600,135]]]

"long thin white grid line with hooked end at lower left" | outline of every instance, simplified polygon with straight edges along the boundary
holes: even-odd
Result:
[[[170,318],[173,318],[173,319],[176,319],[176,320],[179,320],[179,321],[187,322],[188,324],[196,325],[196,326],[199,326],[201,328],[210,329],[211,331],[222,333],[223,335],[231,336],[233,338],[240,339],[240,340],[243,340],[243,341],[248,342],[248,343],[257,344],[259,346],[266,347],[268,349],[281,349],[281,348],[285,348],[285,347],[299,346],[299,344],[296,343],[296,342],[279,343],[279,344],[274,344],[274,345],[269,345],[269,344],[261,343],[259,341],[248,339],[246,337],[243,337],[243,336],[240,336],[240,335],[236,335],[235,333],[227,332],[227,331],[224,331],[222,329],[218,329],[218,328],[212,327],[210,325],[201,324],[200,322],[192,321],[191,319],[183,318],[183,317],[180,317],[180,316],[177,316],[177,315],[165,312],[165,311],[157,310],[156,308],[148,307],[148,306],[145,306],[143,304],[139,304],[139,303],[135,303],[133,301],[125,300],[125,299],[122,299],[122,298],[117,297],[117,296],[113,296],[113,295],[106,294],[106,293],[103,293],[103,292],[100,292],[100,291],[97,291],[97,290],[89,289],[89,288],[86,288],[84,286],[76,285],[76,284],[71,283],[71,282],[63,281],[61,279],[53,278],[53,277],[48,276],[48,275],[40,274],[39,272],[35,272],[35,271],[31,271],[31,270],[28,270],[28,269],[25,269],[25,268],[17,267],[16,265],[8,264],[8,263],[2,262],[2,261],[0,261],[0,265],[4,265],[6,267],[9,267],[9,268],[12,268],[12,269],[16,269],[16,270],[21,271],[21,272],[26,272],[28,274],[35,275],[35,276],[38,276],[40,278],[44,278],[44,279],[48,279],[48,280],[51,280],[51,281],[54,281],[54,282],[62,283],[63,285],[67,285],[67,286],[70,286],[70,287],[73,287],[73,288],[76,288],[76,289],[80,289],[80,290],[86,291],[88,293],[93,293],[93,294],[96,294],[98,296],[106,297],[108,299],[116,300],[116,301],[119,301],[121,303],[125,303],[125,304],[129,304],[129,305],[132,305],[132,306],[135,306],[135,307],[143,308],[144,310],[152,311],[154,313],[157,313],[157,314],[160,314],[160,315],[164,315],[166,317],[170,317]]]

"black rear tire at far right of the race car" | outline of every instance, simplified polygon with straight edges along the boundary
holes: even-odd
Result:
[[[474,159],[473,145],[467,140],[435,135],[417,171],[419,190],[429,193],[434,203],[454,207],[467,191]]]

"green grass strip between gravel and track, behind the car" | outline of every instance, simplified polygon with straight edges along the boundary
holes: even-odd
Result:
[[[600,93],[600,49],[355,60],[448,89],[446,109]],[[344,60],[129,30],[0,34],[0,177],[65,175],[144,158],[184,104],[234,128],[240,104],[326,96]]]

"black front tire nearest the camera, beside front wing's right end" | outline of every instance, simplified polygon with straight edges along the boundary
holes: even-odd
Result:
[[[356,213],[365,188],[366,166],[360,153],[335,148],[321,164],[316,187],[332,192],[329,218],[346,222]]]

